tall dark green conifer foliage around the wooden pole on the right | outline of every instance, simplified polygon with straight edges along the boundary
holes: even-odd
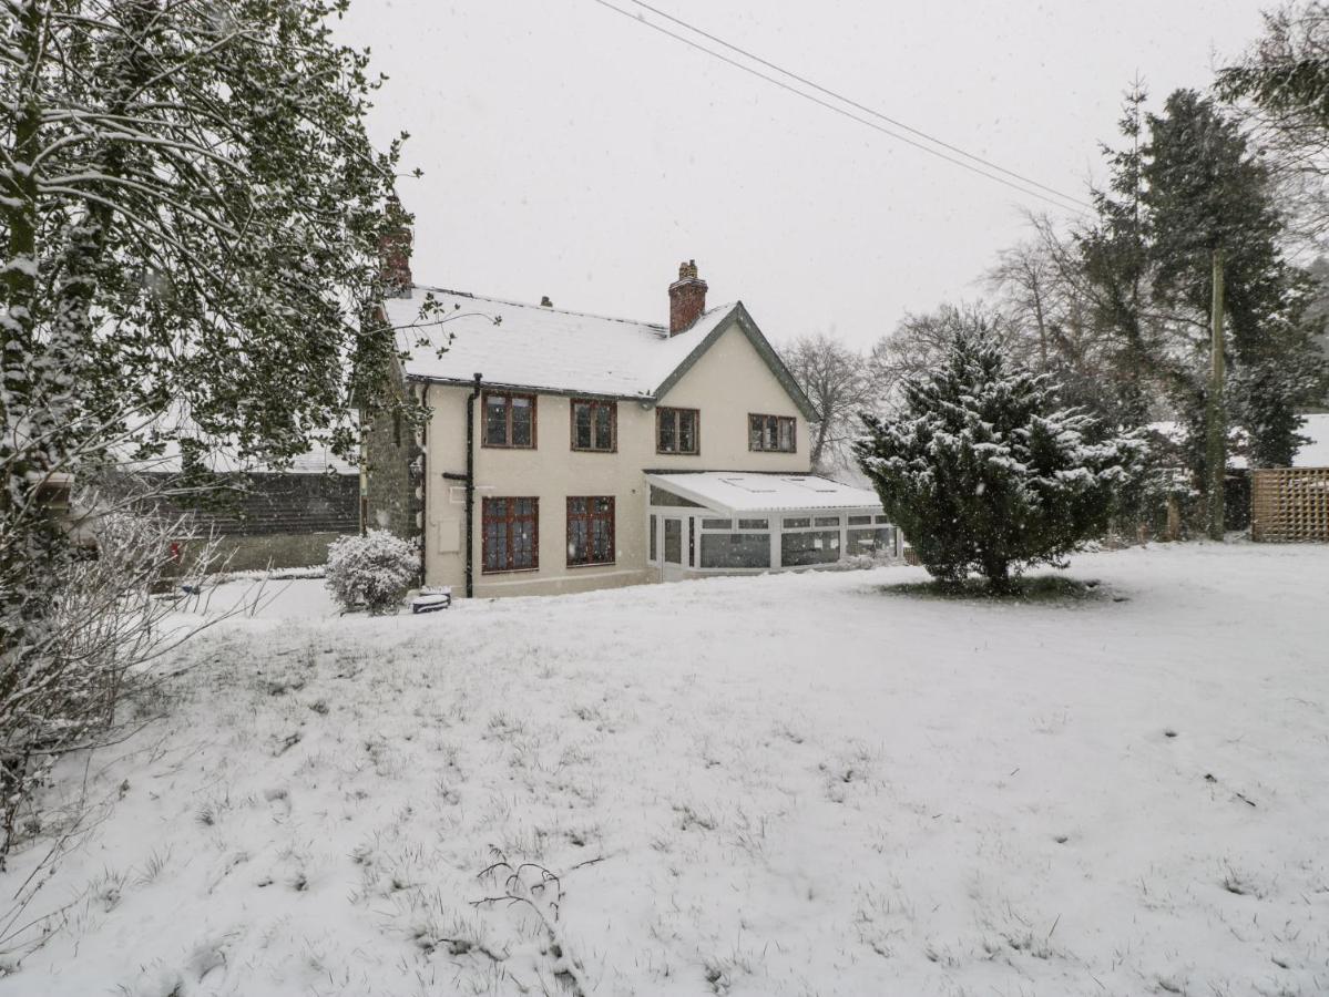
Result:
[[[1126,149],[1108,153],[1110,182],[1095,195],[1099,218],[1079,238],[1080,256],[1095,321],[1120,344],[1111,380],[1126,389],[1122,422],[1177,418],[1188,431],[1177,453],[1203,494],[1213,418],[1257,466],[1290,461],[1296,409],[1322,390],[1314,337],[1324,321],[1312,311],[1314,281],[1284,256],[1273,178],[1237,122],[1192,90],[1171,94],[1160,114],[1143,104],[1136,88],[1122,122]],[[1216,250],[1229,382],[1219,409],[1209,385]],[[1160,462],[1171,457],[1159,451]]]

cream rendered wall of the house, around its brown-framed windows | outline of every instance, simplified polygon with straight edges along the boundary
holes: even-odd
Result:
[[[482,373],[482,370],[481,370]],[[465,584],[462,536],[465,506],[462,483],[443,478],[444,471],[466,469],[465,433],[469,388],[432,385],[433,417],[427,433],[425,577],[429,584]],[[668,470],[809,470],[808,426],[793,400],[760,354],[736,327],[731,327],[661,398],[661,405],[700,412],[700,454],[655,453],[655,409],[637,401],[618,402],[618,451],[571,450],[570,397],[538,394],[537,446],[505,450],[480,445],[481,409],[476,405],[476,514],[474,591],[477,596],[548,595],[651,580],[647,571],[646,499],[643,471]],[[748,450],[748,413],[789,416],[797,420],[793,454]],[[482,572],[484,497],[540,499],[540,570]],[[617,563],[567,567],[566,499],[613,495]]]

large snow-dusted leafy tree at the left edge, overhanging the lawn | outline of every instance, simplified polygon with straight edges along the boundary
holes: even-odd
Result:
[[[77,574],[52,486],[159,451],[167,413],[280,465],[395,352],[360,320],[397,147],[346,7],[0,3],[0,795],[88,733],[31,697]]]

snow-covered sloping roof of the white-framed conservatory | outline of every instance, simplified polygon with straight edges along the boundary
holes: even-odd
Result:
[[[646,481],[720,515],[831,510],[881,511],[877,493],[815,474],[653,471]]]

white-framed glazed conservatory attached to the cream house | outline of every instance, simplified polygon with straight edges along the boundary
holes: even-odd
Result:
[[[647,471],[647,560],[659,579],[900,556],[876,493],[813,474]]]

